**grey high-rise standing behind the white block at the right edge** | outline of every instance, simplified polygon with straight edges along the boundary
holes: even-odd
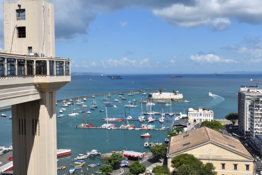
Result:
[[[238,134],[250,136],[250,105],[256,96],[262,96],[262,89],[258,86],[240,86],[238,92]]]

